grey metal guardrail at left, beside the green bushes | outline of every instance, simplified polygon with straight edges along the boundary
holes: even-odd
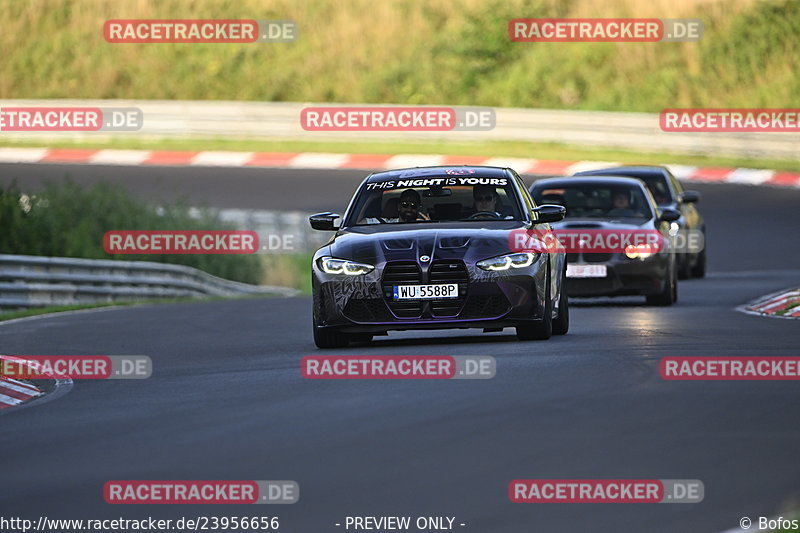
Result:
[[[0,255],[0,311],[160,298],[293,296],[297,292],[229,281],[182,265]]]

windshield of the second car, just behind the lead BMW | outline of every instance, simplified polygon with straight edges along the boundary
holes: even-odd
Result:
[[[652,210],[641,189],[619,185],[559,185],[534,187],[537,204],[567,208],[566,218],[651,218]]]

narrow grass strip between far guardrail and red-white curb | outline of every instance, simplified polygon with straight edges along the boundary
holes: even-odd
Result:
[[[0,146],[42,147],[38,141],[0,140]],[[800,160],[753,159],[745,157],[689,156],[669,152],[633,152],[606,148],[587,148],[557,143],[492,141],[456,142],[332,142],[230,139],[181,139],[148,141],[125,138],[109,141],[48,142],[48,148],[139,149],[139,150],[231,150],[246,152],[333,152],[355,154],[443,154],[486,157],[521,157],[564,161],[618,161],[620,163],[676,163],[711,167],[766,168],[800,172]]]

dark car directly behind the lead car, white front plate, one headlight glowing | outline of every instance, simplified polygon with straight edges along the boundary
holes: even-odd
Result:
[[[554,234],[567,253],[570,296],[644,295],[650,305],[677,300],[678,254],[669,229],[680,213],[658,207],[640,180],[548,178],[530,192],[537,202],[567,209]]]

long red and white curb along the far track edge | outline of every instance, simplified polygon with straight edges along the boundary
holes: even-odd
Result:
[[[83,150],[74,148],[0,148],[0,163],[74,163],[124,166],[261,167],[386,170],[433,165],[511,167],[520,174],[568,176],[581,170],[612,167],[608,161],[560,161],[513,157],[423,154],[335,154],[319,152],[223,152],[164,150]],[[800,188],[800,174],[755,168],[666,165],[680,180]]]

